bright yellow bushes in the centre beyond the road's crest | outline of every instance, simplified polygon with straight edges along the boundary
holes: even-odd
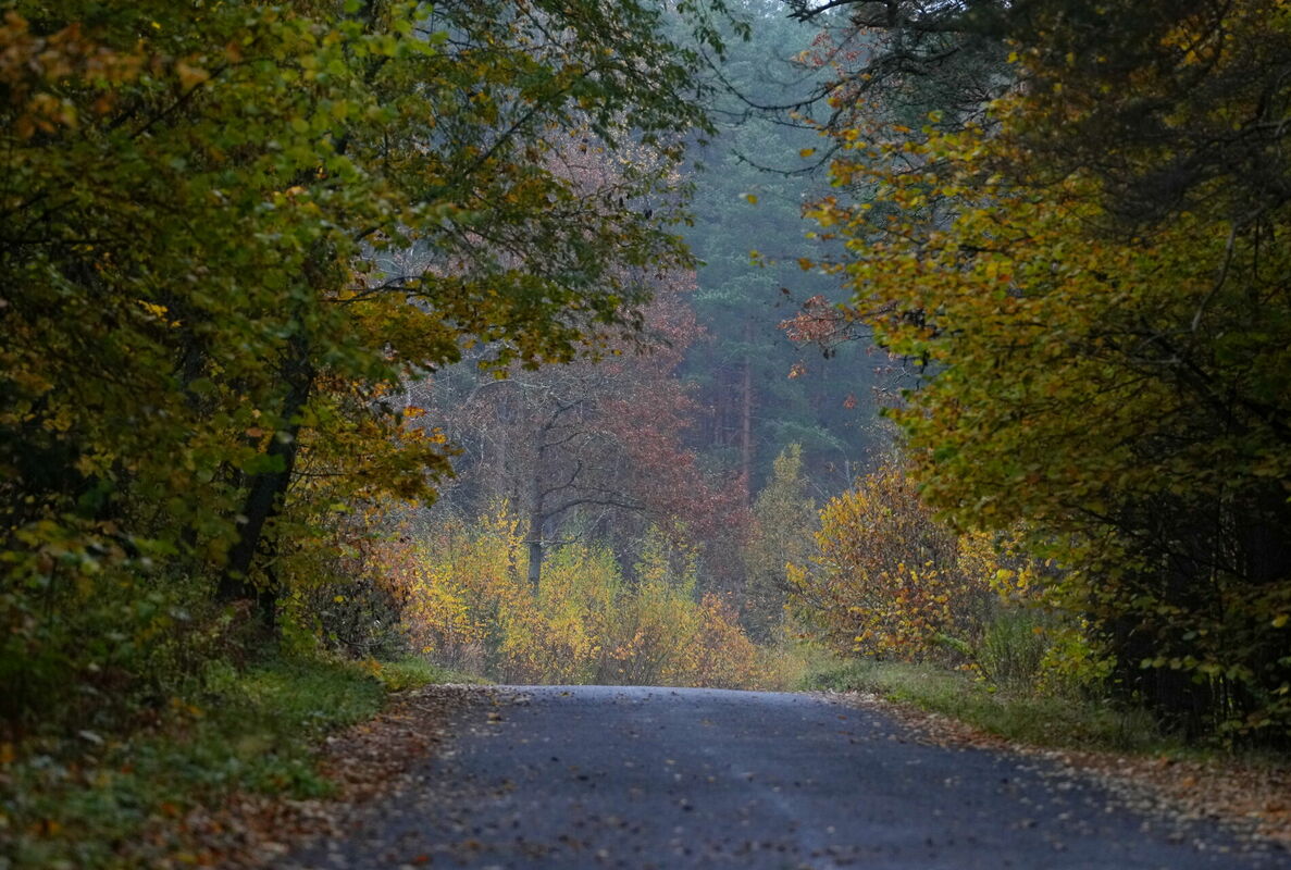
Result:
[[[775,680],[735,612],[696,590],[692,552],[652,533],[625,571],[603,547],[568,542],[527,580],[518,519],[503,506],[377,555],[405,602],[416,649],[507,683],[750,687]]]

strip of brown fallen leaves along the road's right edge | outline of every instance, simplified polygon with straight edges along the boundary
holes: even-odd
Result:
[[[835,703],[878,710],[937,746],[1007,751],[1044,759],[1060,776],[1093,780],[1128,809],[1174,824],[1217,822],[1254,848],[1291,849],[1291,767],[1041,749],[986,733],[958,719],[869,692],[812,692]]]

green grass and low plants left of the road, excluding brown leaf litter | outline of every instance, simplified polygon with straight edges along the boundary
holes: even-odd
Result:
[[[457,682],[417,660],[381,666],[270,661],[208,669],[127,736],[83,731],[0,747],[0,867],[137,867],[142,831],[236,793],[324,796],[329,732],[369,719],[389,691]],[[133,844],[133,845],[132,845]]]

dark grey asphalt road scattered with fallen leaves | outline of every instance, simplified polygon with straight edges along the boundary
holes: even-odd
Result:
[[[714,689],[544,687],[284,867],[1291,867],[1118,805],[1035,759],[882,713]]]

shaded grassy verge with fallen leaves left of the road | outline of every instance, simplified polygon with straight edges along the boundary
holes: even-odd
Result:
[[[267,860],[271,835],[325,824],[429,751],[438,702],[407,689],[457,679],[414,660],[208,670],[132,720],[0,733],[0,869]]]

